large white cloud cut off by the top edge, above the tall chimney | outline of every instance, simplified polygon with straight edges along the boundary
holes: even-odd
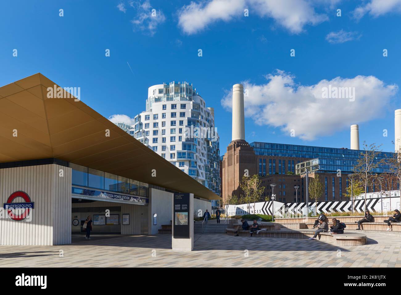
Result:
[[[306,24],[316,25],[328,19],[326,14],[318,14],[315,6],[332,7],[338,0],[208,0],[191,2],[179,12],[178,25],[187,34],[195,34],[209,24],[228,22],[244,17],[244,9],[250,15],[273,18],[277,24],[298,34]]]

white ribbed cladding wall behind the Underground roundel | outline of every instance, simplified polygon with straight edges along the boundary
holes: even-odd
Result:
[[[0,169],[1,205],[18,190],[28,194],[34,209],[26,220],[0,218],[0,244],[71,243],[71,168],[49,164]]]

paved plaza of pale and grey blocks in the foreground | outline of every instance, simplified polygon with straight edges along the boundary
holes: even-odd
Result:
[[[308,239],[195,235],[194,251],[173,252],[171,235],[73,235],[61,246],[0,246],[2,267],[401,267],[400,238],[369,234],[338,247]],[[63,256],[60,253],[63,253]]]

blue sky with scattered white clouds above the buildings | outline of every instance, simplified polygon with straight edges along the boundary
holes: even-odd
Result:
[[[215,108],[224,154],[231,141],[231,87],[244,83],[248,142],[349,148],[349,126],[359,124],[361,143],[394,150],[400,0],[1,5],[0,85],[40,72],[63,87],[81,87],[81,100],[105,117],[133,118],[145,110],[148,87],[188,81]],[[329,84],[355,87],[355,101],[321,99]]]

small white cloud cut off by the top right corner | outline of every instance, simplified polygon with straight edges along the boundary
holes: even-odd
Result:
[[[401,12],[401,0],[370,0],[355,8],[353,14],[356,19],[360,19],[367,13],[378,17],[389,12]]]

